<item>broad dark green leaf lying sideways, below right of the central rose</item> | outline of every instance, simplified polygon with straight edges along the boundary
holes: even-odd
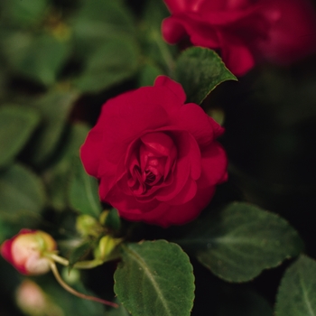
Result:
[[[302,251],[302,240],[288,222],[247,203],[209,212],[177,241],[202,265],[230,282],[252,280]]]

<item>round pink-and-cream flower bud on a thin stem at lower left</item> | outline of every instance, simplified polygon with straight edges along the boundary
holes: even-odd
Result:
[[[50,260],[44,254],[56,250],[51,235],[41,230],[22,229],[1,246],[1,255],[21,274],[45,274]]]

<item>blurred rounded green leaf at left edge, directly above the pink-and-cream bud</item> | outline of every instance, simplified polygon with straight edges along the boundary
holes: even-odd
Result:
[[[19,222],[23,217],[39,218],[45,203],[42,181],[20,164],[0,172],[0,216]]]

